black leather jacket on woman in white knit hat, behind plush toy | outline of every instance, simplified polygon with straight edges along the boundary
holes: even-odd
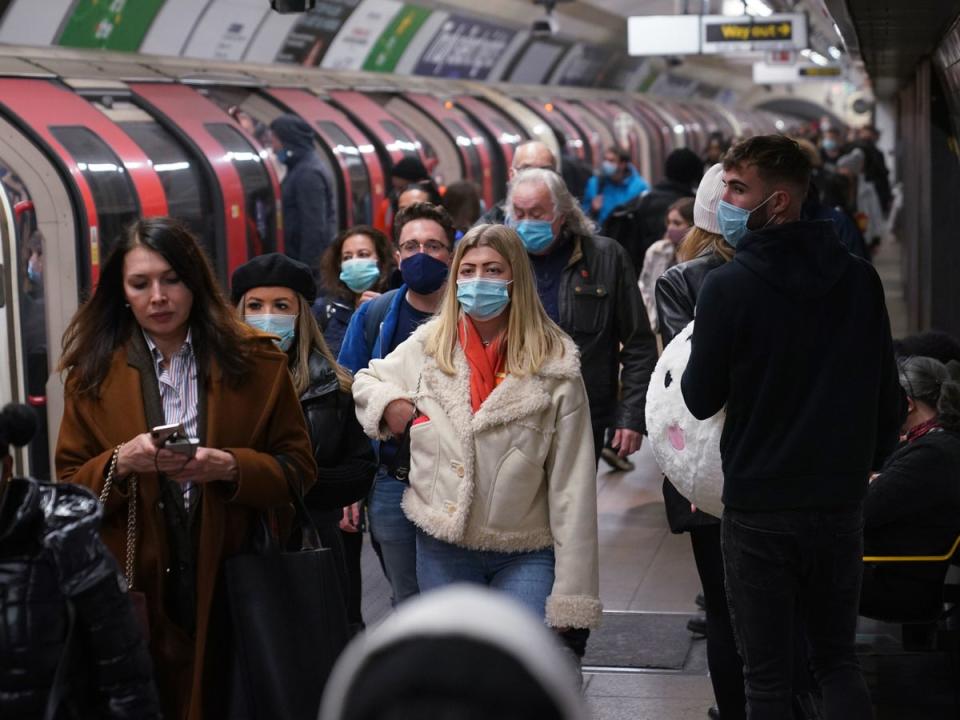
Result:
[[[657,317],[660,319],[660,337],[663,346],[693,320],[697,296],[707,273],[726,262],[716,253],[701,255],[685,263],[669,268],[657,280],[654,296],[657,301]],[[720,522],[712,515],[699,510],[690,511],[690,501],[677,492],[667,478],[663,479],[663,502],[667,510],[667,522],[675,533],[685,532],[702,525]]]

